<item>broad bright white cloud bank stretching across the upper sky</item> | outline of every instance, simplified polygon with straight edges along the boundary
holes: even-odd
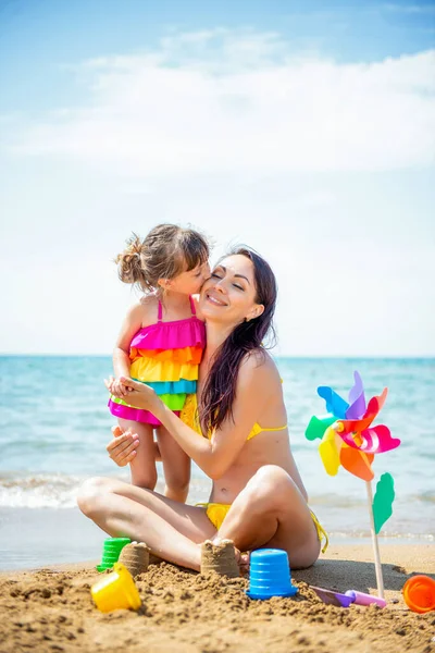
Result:
[[[424,167],[434,72],[435,50],[339,64],[296,54],[274,33],[174,35],[152,52],[85,62],[82,108],[10,147],[146,178]]]

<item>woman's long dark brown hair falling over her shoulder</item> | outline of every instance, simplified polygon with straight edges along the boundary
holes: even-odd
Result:
[[[243,255],[253,264],[256,282],[256,304],[262,304],[264,311],[258,318],[241,322],[222,343],[213,356],[213,365],[200,397],[199,415],[202,433],[214,431],[233,417],[233,404],[236,397],[237,375],[243,359],[249,352],[264,348],[264,338],[275,331],[273,315],[276,306],[277,286],[275,275],[269,263],[248,247],[238,247],[227,256]]]

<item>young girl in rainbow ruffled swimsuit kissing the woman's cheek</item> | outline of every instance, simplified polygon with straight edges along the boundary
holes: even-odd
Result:
[[[196,391],[198,365],[206,345],[204,323],[196,315],[191,295],[210,276],[209,247],[196,231],[175,224],[156,226],[144,242],[134,235],[117,256],[121,281],[137,284],[141,300],[127,312],[113,353],[114,395],[109,399],[122,431],[139,440],[130,460],[132,483],[153,490],[157,483],[153,430],[163,463],[165,496],[185,502],[190,458],[148,410],[127,403],[120,377],[152,386],[169,408],[179,415],[186,395]]]

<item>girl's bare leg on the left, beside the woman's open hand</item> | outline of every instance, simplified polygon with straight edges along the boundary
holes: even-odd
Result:
[[[136,456],[129,464],[132,483],[139,488],[153,490],[157,483],[153,427],[127,419],[120,419],[119,424],[123,431],[132,431],[139,440]]]

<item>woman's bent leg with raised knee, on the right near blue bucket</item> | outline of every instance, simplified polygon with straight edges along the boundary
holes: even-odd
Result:
[[[307,502],[293,479],[274,465],[261,467],[234,501],[217,538],[240,551],[264,546],[287,551],[293,568],[310,567],[320,542]]]

